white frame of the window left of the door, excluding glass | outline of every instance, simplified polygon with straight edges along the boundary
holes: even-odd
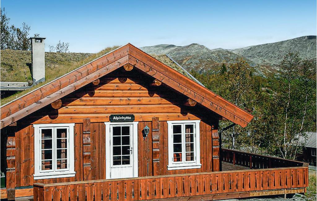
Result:
[[[34,180],[74,177],[74,123],[68,124],[34,124]],[[57,129],[67,129],[67,168],[57,169]],[[52,129],[52,170],[42,170],[42,129]]]

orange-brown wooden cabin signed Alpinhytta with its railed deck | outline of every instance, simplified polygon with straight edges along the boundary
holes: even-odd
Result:
[[[221,149],[253,116],[131,44],[1,107],[6,187],[34,200],[214,200],[303,193],[305,163]]]

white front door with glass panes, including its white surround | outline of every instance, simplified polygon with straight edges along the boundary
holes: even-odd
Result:
[[[106,179],[138,176],[138,134],[135,130],[135,122],[106,124]]]

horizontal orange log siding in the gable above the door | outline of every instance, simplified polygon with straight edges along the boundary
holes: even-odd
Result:
[[[138,70],[127,74],[118,69],[100,78],[98,85],[89,84],[62,98],[60,109],[42,108],[30,116],[30,123],[81,123],[82,119],[105,122],[115,113],[134,114],[136,121],[152,121],[152,117],[159,117],[159,121],[202,119],[207,115],[218,118],[203,106],[184,106],[186,96],[151,83],[152,78]]]

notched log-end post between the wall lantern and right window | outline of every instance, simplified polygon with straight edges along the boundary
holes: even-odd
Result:
[[[152,160],[153,175],[159,175],[160,170],[160,151],[159,151],[159,118],[152,118]]]

